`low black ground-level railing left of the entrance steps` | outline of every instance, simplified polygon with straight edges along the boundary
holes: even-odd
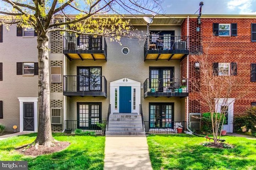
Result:
[[[96,134],[104,134],[106,129],[97,126],[98,123],[107,124],[106,120],[65,120],[65,133],[74,133],[76,129],[94,131]]]

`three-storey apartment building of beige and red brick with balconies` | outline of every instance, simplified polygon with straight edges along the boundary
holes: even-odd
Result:
[[[200,69],[190,56],[204,55],[209,45],[209,62],[221,66],[225,54],[228,69],[236,63],[237,76],[255,90],[256,16],[207,15],[198,24],[196,15],[167,15],[155,16],[148,25],[143,17],[126,15],[142,38],[121,38],[120,43],[108,37],[50,34],[53,131],[90,129],[107,120],[108,113],[143,112],[147,130],[170,130],[174,122],[185,126],[190,114],[208,111],[189,91],[189,78]],[[36,132],[36,34],[12,25],[8,31],[1,26],[0,35],[0,123],[8,131],[17,125],[17,131]],[[249,63],[246,67],[241,64],[244,60]],[[251,93],[232,104],[225,126],[229,132],[233,116],[254,102]],[[193,123],[193,128],[200,124]]]

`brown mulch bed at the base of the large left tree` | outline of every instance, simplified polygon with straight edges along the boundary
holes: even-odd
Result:
[[[61,150],[64,150],[70,145],[69,142],[55,142],[54,146],[47,147],[43,145],[39,145],[38,149],[34,147],[34,145],[26,145],[22,146],[20,148],[17,148],[16,150],[20,152],[21,154],[27,155],[27,156],[39,156],[43,154],[51,154],[54,152],[58,152]]]

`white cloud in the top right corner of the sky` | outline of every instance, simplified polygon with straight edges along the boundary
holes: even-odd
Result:
[[[227,5],[239,14],[256,14],[256,0],[230,0]]]

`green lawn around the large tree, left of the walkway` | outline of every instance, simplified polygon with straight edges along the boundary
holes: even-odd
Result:
[[[32,143],[36,134],[16,136],[0,141],[0,160],[26,160],[30,170],[103,170],[104,136],[54,134],[54,138],[71,144],[60,152],[32,158],[19,154],[14,148]]]

